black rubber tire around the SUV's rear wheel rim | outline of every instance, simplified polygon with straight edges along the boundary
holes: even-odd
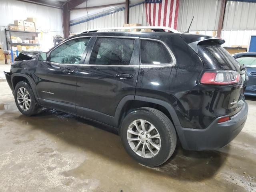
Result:
[[[128,127],[134,120],[138,120],[138,119],[146,120],[152,123],[156,127],[160,135],[160,138],[161,138],[160,150],[155,156],[151,158],[144,158],[136,154],[128,143],[128,138],[127,138]],[[170,158],[170,156],[172,156],[176,148],[177,137],[176,137],[176,131],[172,122],[163,112],[156,110],[154,108],[142,107],[130,112],[124,118],[120,131],[121,131],[120,134],[121,134],[122,143],[124,145],[124,148],[128,152],[128,154],[132,156],[132,158],[134,158],[140,164],[143,164],[146,166],[150,166],[150,167],[160,166],[161,164],[166,162]]]

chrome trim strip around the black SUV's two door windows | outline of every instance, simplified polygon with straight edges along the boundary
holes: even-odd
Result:
[[[78,38],[86,38],[86,37],[110,37],[110,38],[125,38],[125,39],[138,39],[139,37],[131,37],[131,36],[108,36],[108,35],[90,35],[90,36],[79,36],[79,37],[74,37],[74,38],[70,38],[69,40],[66,40],[64,42],[62,42],[61,44],[59,44],[58,46],[72,40],[72,39],[78,39]],[[134,41],[135,42],[135,41]],[[56,46],[53,50],[55,50],[58,46]],[[135,48],[135,47],[134,47]],[[53,51],[51,50],[49,52],[49,54],[51,54],[51,52]],[[49,55],[50,56],[50,55]],[[139,67],[140,65],[90,65],[90,64],[64,64],[64,63],[55,63],[55,62],[51,62],[51,61],[47,61],[50,62],[51,64],[54,65],[68,65],[68,66],[108,66],[108,67]]]

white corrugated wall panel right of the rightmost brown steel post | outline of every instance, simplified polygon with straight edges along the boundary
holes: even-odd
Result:
[[[228,1],[223,29],[256,29],[256,3]]]

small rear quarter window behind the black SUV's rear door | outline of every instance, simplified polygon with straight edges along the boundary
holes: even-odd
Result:
[[[140,40],[141,64],[168,64],[172,58],[167,48],[158,41]]]

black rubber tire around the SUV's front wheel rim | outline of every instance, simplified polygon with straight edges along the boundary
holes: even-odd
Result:
[[[18,99],[17,99],[17,92],[19,90],[19,88],[25,88],[29,95],[30,95],[30,108],[28,110],[23,110],[20,105],[18,104]],[[20,110],[20,112],[26,116],[33,116],[38,114],[42,108],[40,106],[38,106],[37,102],[36,102],[36,98],[34,96],[34,93],[32,91],[32,89],[30,88],[29,84],[27,84],[24,81],[18,82],[14,88],[14,99],[15,99],[15,103],[16,106],[18,107],[18,109]]]

